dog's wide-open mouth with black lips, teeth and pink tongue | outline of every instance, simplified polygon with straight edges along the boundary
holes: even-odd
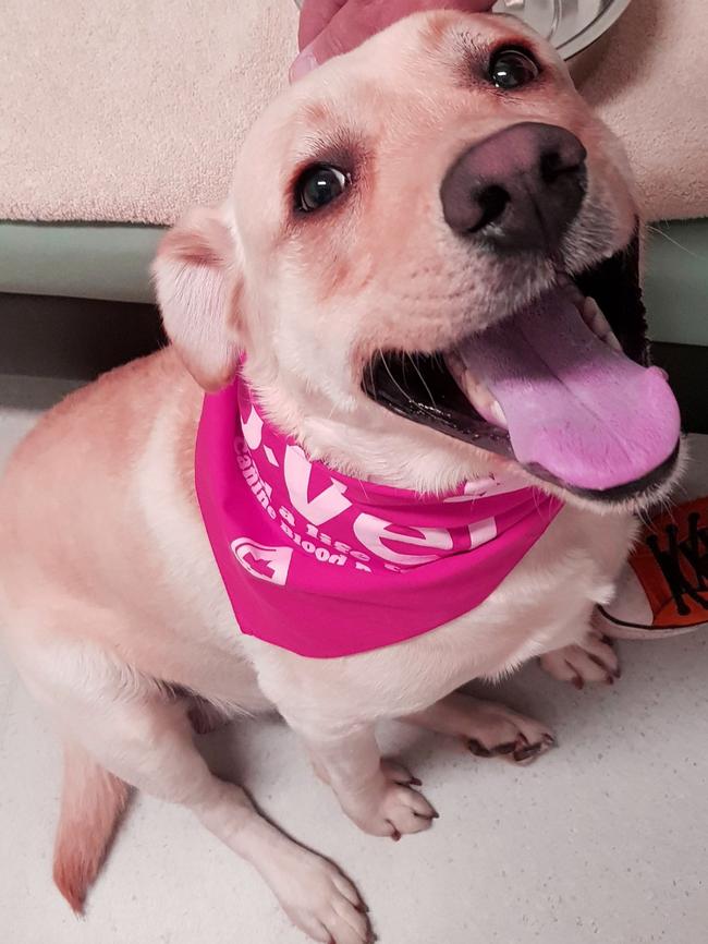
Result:
[[[377,355],[363,387],[538,479],[618,501],[660,485],[679,452],[679,408],[645,365],[645,328],[635,240],[453,350]]]

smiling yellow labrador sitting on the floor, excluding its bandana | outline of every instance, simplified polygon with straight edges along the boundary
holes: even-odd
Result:
[[[524,763],[550,731],[463,683],[532,656],[576,685],[618,675],[591,612],[679,462],[675,403],[636,363],[636,218],[620,145],[510,17],[411,16],[266,111],[228,199],[159,251],[173,346],[51,411],[1,487],[1,617],[64,743],[72,907],[131,785],[191,808],[314,940],[362,944],[357,892],[209,772],[194,718],[276,709],[344,812],[398,838],[436,813],[381,759],[379,719]],[[478,605],[398,644],[317,657],[241,632],[194,484],[204,391],[236,374],[293,461],[460,501],[512,475],[554,517]],[[396,536],[403,565],[441,546]]]

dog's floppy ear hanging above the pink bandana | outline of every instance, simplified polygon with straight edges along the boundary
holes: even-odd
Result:
[[[223,208],[193,209],[163,237],[152,264],[167,334],[205,390],[232,379],[239,361],[240,247]]]

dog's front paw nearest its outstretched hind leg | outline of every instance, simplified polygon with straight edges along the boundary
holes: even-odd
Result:
[[[406,833],[428,830],[438,814],[415,789],[420,786],[410,771],[394,761],[381,761],[376,784],[355,799],[347,798],[344,811],[365,833],[400,839]]]

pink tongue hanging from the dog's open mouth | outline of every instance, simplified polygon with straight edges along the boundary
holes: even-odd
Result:
[[[563,289],[471,338],[459,353],[501,404],[516,459],[561,483],[625,485],[676,447],[679,407],[661,371],[609,348]]]

